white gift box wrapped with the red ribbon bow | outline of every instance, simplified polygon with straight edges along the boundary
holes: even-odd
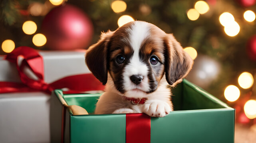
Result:
[[[40,51],[44,81],[90,73],[83,52]],[[0,81],[21,82],[16,65],[0,56]],[[0,142],[50,142],[50,95],[43,92],[0,94]]]

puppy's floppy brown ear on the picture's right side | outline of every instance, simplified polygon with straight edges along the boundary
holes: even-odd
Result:
[[[165,77],[169,85],[184,78],[192,68],[193,60],[172,34],[167,34],[165,44]]]

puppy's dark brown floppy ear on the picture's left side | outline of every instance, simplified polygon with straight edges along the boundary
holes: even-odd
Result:
[[[107,47],[114,32],[101,33],[98,43],[89,47],[85,54],[85,63],[93,75],[105,85],[107,83]]]

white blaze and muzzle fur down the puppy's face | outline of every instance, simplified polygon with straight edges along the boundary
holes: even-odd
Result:
[[[145,63],[140,60],[139,51],[141,48],[141,44],[145,40],[145,38],[150,35],[150,27],[149,23],[143,21],[135,21],[134,25],[129,29],[129,39],[131,48],[133,48],[133,55],[129,59],[129,64],[125,66],[123,78],[124,78],[124,88],[126,90],[131,89],[141,89],[143,91],[149,91],[149,83],[148,83],[148,67]],[[135,85],[131,82],[131,75],[142,75],[143,80],[139,85]]]

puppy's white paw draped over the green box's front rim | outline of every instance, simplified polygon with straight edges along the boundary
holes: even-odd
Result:
[[[164,117],[171,111],[170,105],[161,100],[149,100],[143,106],[143,112],[151,117]]]

